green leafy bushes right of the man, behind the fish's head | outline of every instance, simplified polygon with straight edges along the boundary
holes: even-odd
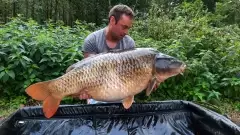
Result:
[[[187,64],[184,76],[161,83],[148,100],[239,100],[240,29],[220,25],[220,12],[209,13],[199,5],[201,0],[183,2],[165,13],[153,3],[148,18],[136,22],[131,36],[138,46],[155,47]]]

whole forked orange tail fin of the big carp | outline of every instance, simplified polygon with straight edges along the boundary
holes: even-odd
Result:
[[[43,101],[43,113],[47,118],[51,118],[56,113],[61,101],[60,96],[54,96],[50,92],[49,83],[51,81],[35,83],[26,89],[30,97]]]

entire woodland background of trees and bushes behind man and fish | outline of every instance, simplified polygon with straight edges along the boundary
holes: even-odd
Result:
[[[0,0],[0,111],[39,105],[24,92],[81,60],[84,38],[107,25],[118,3],[136,13],[130,36],[187,63],[184,76],[138,102],[189,100],[220,113],[240,111],[239,0]],[[85,103],[66,98],[62,104]],[[226,104],[226,105],[225,105]],[[230,107],[229,107],[230,106]]]

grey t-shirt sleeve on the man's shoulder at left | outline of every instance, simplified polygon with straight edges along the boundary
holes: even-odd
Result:
[[[98,49],[95,36],[93,34],[90,34],[85,38],[82,46],[82,51],[86,53],[97,53]]]

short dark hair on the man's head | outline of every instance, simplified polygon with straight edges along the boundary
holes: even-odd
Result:
[[[130,7],[128,7],[127,5],[118,4],[112,7],[112,9],[110,10],[108,14],[108,21],[110,21],[111,16],[114,16],[117,23],[123,14],[134,18],[134,12]]]

